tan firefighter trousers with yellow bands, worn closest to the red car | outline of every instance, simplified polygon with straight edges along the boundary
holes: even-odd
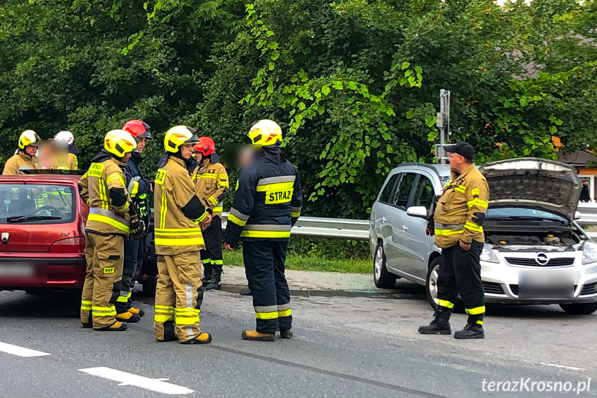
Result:
[[[125,239],[118,235],[85,234],[87,271],[81,297],[81,322],[93,316],[93,328],[101,329],[116,323],[114,284],[122,279],[125,260]]]

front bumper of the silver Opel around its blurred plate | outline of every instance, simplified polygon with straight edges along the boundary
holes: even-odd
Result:
[[[573,255],[570,266],[517,266],[506,262],[502,253],[498,253],[499,263],[481,261],[481,280],[485,290],[486,302],[502,304],[582,304],[597,302],[597,263],[582,265],[582,253],[566,252],[556,256]],[[535,253],[526,254],[532,258]],[[520,298],[519,275],[543,274],[557,270],[569,272],[573,278],[573,295],[569,298]]]

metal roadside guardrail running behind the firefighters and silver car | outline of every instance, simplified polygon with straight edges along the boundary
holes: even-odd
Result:
[[[597,226],[597,203],[578,203],[580,218],[576,222],[581,226]],[[228,212],[222,214],[222,229],[226,230]],[[585,231],[597,242],[597,231]],[[369,220],[340,219],[324,217],[300,217],[292,228],[293,236],[331,237],[336,239],[369,239]]]

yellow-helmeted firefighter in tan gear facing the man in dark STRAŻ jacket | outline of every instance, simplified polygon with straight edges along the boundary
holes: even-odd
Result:
[[[164,138],[166,154],[158,163],[154,190],[158,255],[154,330],[159,342],[176,338],[183,344],[212,341],[212,336],[199,327],[201,300],[197,300],[201,287],[199,251],[204,248],[201,228],[211,221],[188,170],[193,145],[198,142],[194,129],[172,127]]]

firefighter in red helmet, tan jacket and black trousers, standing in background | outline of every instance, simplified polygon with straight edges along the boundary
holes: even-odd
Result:
[[[199,144],[193,150],[198,163],[192,174],[197,196],[212,209],[212,222],[203,231],[205,248],[201,251],[204,270],[201,284],[206,290],[220,290],[223,266],[221,214],[222,201],[228,196],[228,173],[219,162],[212,138],[199,138]]]

